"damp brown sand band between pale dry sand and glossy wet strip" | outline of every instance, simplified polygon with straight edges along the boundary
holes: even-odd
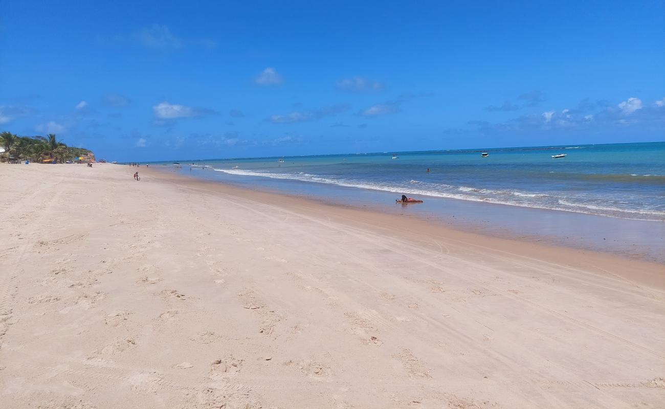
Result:
[[[263,202],[281,202],[282,205],[298,209],[299,211],[312,212],[313,214],[321,217],[334,216],[335,221],[343,221],[344,219],[352,220],[354,223],[362,223],[368,229],[375,229],[376,231],[398,237],[395,231],[408,232],[409,237],[419,237],[418,241],[427,243],[428,239],[432,237],[452,237],[455,240],[464,243],[477,243],[482,242],[483,247],[497,249],[499,251],[512,251],[513,255],[520,255],[521,257],[532,257],[534,254],[545,255],[547,261],[553,263],[571,263],[573,268],[578,267],[593,267],[594,263],[598,263],[597,271],[602,274],[602,271],[612,267],[618,266],[619,269],[632,270],[633,272],[625,277],[626,279],[635,279],[636,281],[645,285],[657,285],[660,289],[665,289],[665,266],[656,261],[648,261],[636,259],[634,257],[622,257],[610,252],[593,251],[587,249],[573,249],[567,246],[553,245],[550,243],[533,243],[520,239],[519,237],[497,237],[496,235],[483,234],[479,231],[472,229],[461,229],[461,225],[447,225],[435,218],[426,219],[419,215],[394,215],[390,213],[382,214],[375,209],[362,209],[356,205],[340,205],[332,204],[324,199],[319,199],[311,196],[297,196],[293,194],[286,194],[277,191],[265,190],[249,190],[242,186],[233,184],[225,184],[219,181],[203,180],[196,178],[196,176],[184,176],[175,172],[162,170],[160,168],[144,169],[140,172],[150,174],[162,182],[186,184],[200,186],[207,190],[243,198],[245,200],[259,199]],[[314,206],[321,206],[320,208]],[[546,209],[535,209],[536,211],[549,211]],[[596,216],[602,217],[602,216]],[[408,221],[403,219],[407,218]],[[376,221],[370,222],[368,220],[375,219]],[[432,224],[434,223],[434,225]],[[382,225],[390,225],[389,228],[382,228]],[[533,238],[533,237],[530,237]],[[519,251],[515,252],[515,248]],[[579,263],[577,260],[586,258],[589,261]],[[630,266],[631,263],[634,265]]]

